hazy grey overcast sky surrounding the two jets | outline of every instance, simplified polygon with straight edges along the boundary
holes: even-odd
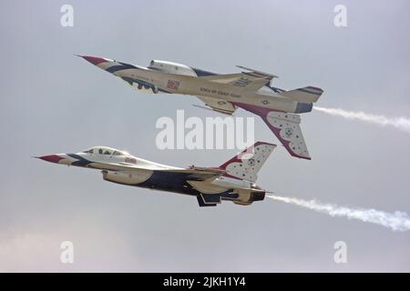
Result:
[[[60,7],[74,7],[74,27]],[[333,8],[347,7],[347,27]],[[408,1],[1,1],[0,271],[410,271],[410,233],[267,199],[200,208],[194,197],[119,186],[30,158],[105,145],[174,166],[236,150],[159,150],[160,116],[218,116],[182,95],[138,94],[74,54],[219,73],[246,65],[318,105],[410,116]],[[251,116],[238,110],[237,116]],[[260,119],[258,140],[279,143]],[[278,146],[258,184],[282,196],[410,213],[410,135],[302,115],[312,161]],[[60,263],[72,241],[75,263]],[[333,262],[333,244],[348,263]]]

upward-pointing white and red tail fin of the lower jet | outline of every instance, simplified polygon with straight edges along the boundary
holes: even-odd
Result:
[[[220,168],[227,171],[228,176],[255,182],[258,172],[276,145],[257,142],[237,156],[232,157]]]

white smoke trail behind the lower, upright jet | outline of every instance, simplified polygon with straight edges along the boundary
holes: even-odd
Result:
[[[328,214],[329,216],[343,216],[348,219],[359,219],[363,222],[370,222],[379,226],[389,227],[393,231],[410,230],[410,218],[405,212],[395,211],[395,213],[388,213],[375,209],[349,208],[333,204],[323,204],[316,200],[302,200],[293,197],[274,195],[267,197],[295,206],[312,209],[317,212]]]

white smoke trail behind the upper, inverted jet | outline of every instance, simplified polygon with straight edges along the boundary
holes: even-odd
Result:
[[[314,106],[314,109],[327,113],[329,115],[337,115],[342,116],[347,119],[352,120],[361,120],[364,122],[368,122],[374,125],[381,125],[381,126],[393,126],[396,129],[405,131],[410,133],[410,118],[406,118],[403,116],[389,118],[384,115],[371,115],[364,113],[363,111],[346,111],[340,108],[323,108]]]

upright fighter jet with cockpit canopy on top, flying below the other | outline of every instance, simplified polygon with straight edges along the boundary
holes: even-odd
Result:
[[[263,200],[266,191],[255,182],[275,145],[257,142],[218,167],[179,168],[153,163],[107,146],[94,146],[77,154],[36,156],[67,166],[101,170],[104,180],[143,188],[196,196],[200,206],[230,200],[241,206]]]

